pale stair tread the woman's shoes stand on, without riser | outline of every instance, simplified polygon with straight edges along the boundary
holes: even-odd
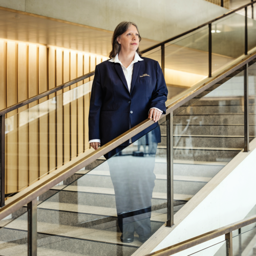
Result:
[[[9,224],[9,228],[15,228],[19,230],[27,230],[28,222],[27,220],[16,220]],[[18,228],[17,228],[18,227]],[[123,244],[120,241],[121,233],[117,231],[111,231],[111,228],[100,230],[93,228],[84,228],[68,225],[53,224],[47,222],[37,222],[37,232],[52,234],[54,236],[61,236],[63,240],[67,238],[75,238],[79,240],[90,240],[95,242],[120,244],[123,246],[140,246],[141,242],[138,240],[138,235],[135,233],[135,239],[133,243]]]

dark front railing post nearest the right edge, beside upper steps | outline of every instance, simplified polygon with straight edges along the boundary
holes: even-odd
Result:
[[[249,152],[249,90],[248,63],[244,68],[244,152]]]

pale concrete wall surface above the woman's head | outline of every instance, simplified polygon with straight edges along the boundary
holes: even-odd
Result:
[[[123,20],[162,41],[227,12],[204,0],[0,0],[0,6],[114,31]]]

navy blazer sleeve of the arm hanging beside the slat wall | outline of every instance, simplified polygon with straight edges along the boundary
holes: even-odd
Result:
[[[100,73],[98,67],[96,66],[89,109],[89,141],[94,139],[100,140],[99,120],[102,98],[103,94],[100,83]]]

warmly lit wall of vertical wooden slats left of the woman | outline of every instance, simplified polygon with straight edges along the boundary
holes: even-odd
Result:
[[[106,59],[69,49],[0,40],[0,109],[87,74]],[[90,93],[84,95],[85,86],[81,86],[89,80],[6,116],[7,194],[89,148]]]

